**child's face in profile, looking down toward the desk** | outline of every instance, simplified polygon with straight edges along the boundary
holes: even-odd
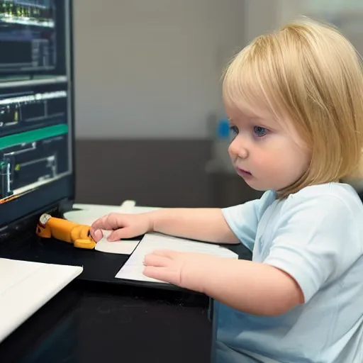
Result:
[[[253,189],[285,188],[298,180],[311,155],[296,130],[269,117],[230,113],[228,152],[237,173]]]

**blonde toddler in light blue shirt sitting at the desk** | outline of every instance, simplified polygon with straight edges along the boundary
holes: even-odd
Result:
[[[157,250],[144,274],[219,305],[216,362],[363,362],[363,76],[335,28],[309,19],[252,41],[223,74],[235,170],[261,199],[111,213],[109,240],[157,231],[243,243],[252,261]],[[192,327],[191,327],[192,328]]]

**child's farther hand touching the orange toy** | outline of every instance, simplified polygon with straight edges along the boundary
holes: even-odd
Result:
[[[91,236],[99,242],[103,238],[101,230],[113,230],[108,241],[117,241],[123,238],[133,238],[152,230],[151,213],[123,214],[109,213],[96,220],[91,225]]]

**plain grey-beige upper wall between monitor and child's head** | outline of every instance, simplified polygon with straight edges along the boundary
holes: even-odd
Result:
[[[77,138],[206,137],[243,4],[74,0]]]

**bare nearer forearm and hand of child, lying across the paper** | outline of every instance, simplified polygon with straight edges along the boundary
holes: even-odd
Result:
[[[303,303],[296,281],[276,267],[169,250],[145,257],[144,274],[199,291],[254,315],[279,315]]]

